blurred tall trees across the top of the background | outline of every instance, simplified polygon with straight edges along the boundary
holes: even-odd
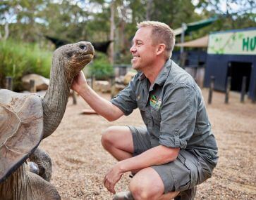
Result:
[[[136,24],[142,20],[165,22],[176,29],[181,27],[182,22],[190,23],[219,16],[219,20],[212,25],[186,36],[185,41],[205,36],[209,32],[256,26],[256,15],[253,12],[255,1],[228,0],[226,11],[221,8],[224,2],[220,0],[1,0],[0,39],[8,33],[6,35],[11,39],[40,44],[47,43],[44,37],[46,35],[70,42],[106,41],[109,39],[111,28],[110,8],[114,5],[114,54],[118,58],[114,62],[128,63],[131,40],[137,30]],[[8,31],[5,25],[8,25],[6,26]],[[179,41],[180,36],[176,36],[176,42]]]

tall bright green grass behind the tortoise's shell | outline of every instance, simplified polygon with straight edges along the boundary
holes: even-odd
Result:
[[[37,44],[1,41],[0,52],[1,87],[4,87],[6,76],[13,77],[14,91],[20,91],[21,78],[25,74],[35,73],[49,77],[52,53],[42,50]]]

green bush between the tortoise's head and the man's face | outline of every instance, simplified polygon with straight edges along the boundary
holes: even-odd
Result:
[[[114,68],[109,63],[108,58],[103,53],[97,53],[96,58],[88,66],[89,76],[95,76],[98,80],[109,79],[114,75]]]

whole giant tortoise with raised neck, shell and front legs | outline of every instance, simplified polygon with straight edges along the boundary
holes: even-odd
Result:
[[[48,182],[51,160],[37,147],[61,123],[73,78],[94,53],[87,41],[57,48],[43,98],[35,93],[0,90],[0,199],[60,199],[54,185]],[[36,173],[31,170],[29,157],[36,163]]]

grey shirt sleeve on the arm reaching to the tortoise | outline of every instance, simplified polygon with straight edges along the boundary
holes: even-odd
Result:
[[[116,105],[123,114],[129,115],[133,112],[133,109],[137,108],[136,95],[135,95],[135,77],[130,81],[129,85],[124,88],[115,98],[111,100],[111,103]]]

